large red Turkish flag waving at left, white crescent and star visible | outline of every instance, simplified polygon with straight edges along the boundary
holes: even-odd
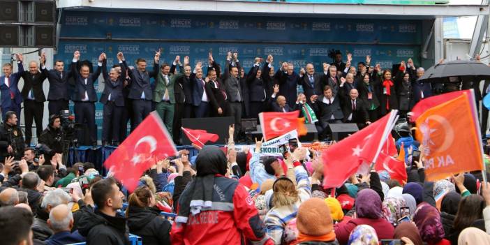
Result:
[[[167,128],[156,112],[151,112],[133,133],[110,154],[104,167],[133,192],[143,172],[156,161],[177,155]]]

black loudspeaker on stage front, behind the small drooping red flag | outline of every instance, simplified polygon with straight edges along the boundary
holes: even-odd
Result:
[[[183,118],[182,127],[189,129],[202,129],[207,133],[215,133],[219,136],[216,142],[207,144],[226,144],[228,140],[228,126],[235,123],[234,117],[202,117],[202,118]],[[177,132],[174,132],[177,133]],[[182,144],[190,145],[191,141],[185,133],[182,133]]]

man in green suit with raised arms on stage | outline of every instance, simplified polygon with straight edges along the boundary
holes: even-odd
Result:
[[[175,57],[175,64],[180,64],[180,57]],[[156,103],[156,112],[160,115],[163,123],[167,127],[168,133],[172,136],[172,124],[174,121],[175,93],[174,84],[183,74],[170,73],[170,66],[163,64],[156,76],[156,86],[153,93],[153,101]]]

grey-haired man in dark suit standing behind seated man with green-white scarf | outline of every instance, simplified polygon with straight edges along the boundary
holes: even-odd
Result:
[[[306,69],[302,68],[300,70],[299,77],[301,77],[299,84],[302,85],[306,98],[310,98],[314,94],[322,94],[322,87],[326,85],[327,75],[325,73],[315,73],[313,64],[306,64]]]

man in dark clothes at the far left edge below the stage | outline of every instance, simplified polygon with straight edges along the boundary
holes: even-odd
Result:
[[[17,126],[17,114],[13,111],[5,113],[5,121],[0,126],[0,161],[6,156],[20,160],[24,156],[24,136]]]

